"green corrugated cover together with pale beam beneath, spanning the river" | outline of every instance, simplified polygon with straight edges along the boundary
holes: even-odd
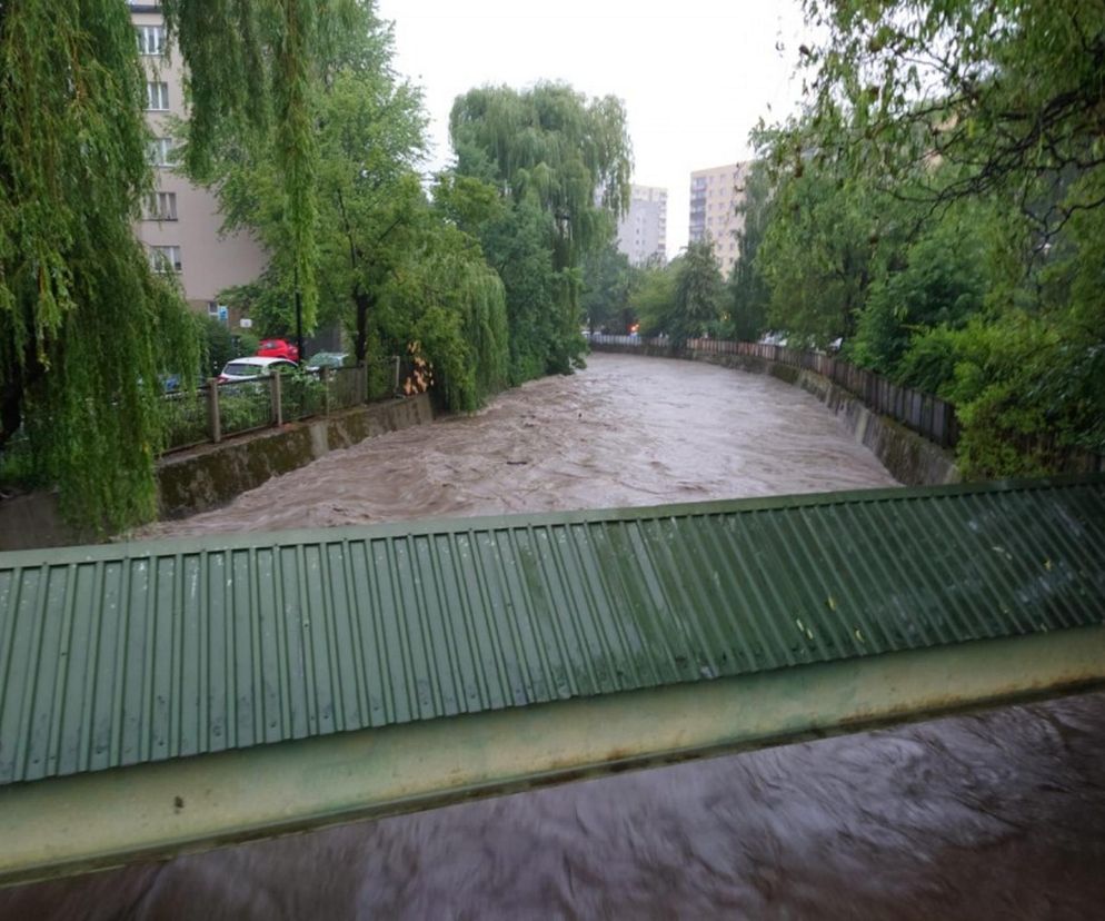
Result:
[[[0,554],[0,882],[1096,686],[1103,623],[1101,475]]]

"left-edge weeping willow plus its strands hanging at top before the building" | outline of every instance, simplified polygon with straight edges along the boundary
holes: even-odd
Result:
[[[350,0],[163,0],[190,68],[189,158],[219,132],[281,127],[282,194],[312,290],[312,61]],[[119,0],[0,2],[0,450],[26,435],[69,516],[156,511],[158,375],[190,373],[179,293],[132,236],[151,189],[146,75]]]

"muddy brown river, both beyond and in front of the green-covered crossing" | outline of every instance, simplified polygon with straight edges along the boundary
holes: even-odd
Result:
[[[893,483],[778,380],[595,356],[150,533]],[[3,890],[0,918],[1105,918],[1105,694]]]

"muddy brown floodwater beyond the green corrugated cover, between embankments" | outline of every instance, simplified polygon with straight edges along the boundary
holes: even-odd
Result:
[[[713,365],[591,356],[476,416],[394,432],[156,535],[658,505],[894,485],[813,396]]]

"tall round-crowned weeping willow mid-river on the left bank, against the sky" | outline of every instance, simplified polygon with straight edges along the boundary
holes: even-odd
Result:
[[[614,97],[588,100],[560,83],[484,87],[457,99],[449,129],[457,171],[492,184],[511,206],[505,222],[480,236],[507,285],[512,377],[567,372],[584,348],[583,258],[611,238],[615,217],[628,206],[625,109]],[[534,271],[511,277],[511,266],[532,259],[537,248],[547,267],[540,290]],[[535,316],[536,309],[550,316]]]

